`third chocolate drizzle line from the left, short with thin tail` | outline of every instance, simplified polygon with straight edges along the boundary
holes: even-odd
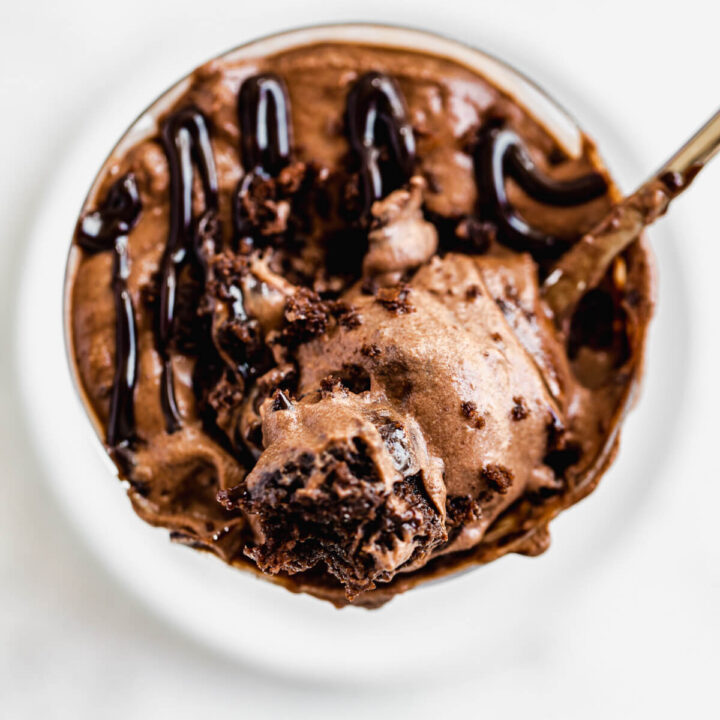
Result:
[[[281,77],[253,75],[238,93],[240,154],[245,174],[235,195],[235,225],[239,238],[251,239],[252,224],[245,217],[242,200],[256,177],[271,178],[290,162],[290,100]]]

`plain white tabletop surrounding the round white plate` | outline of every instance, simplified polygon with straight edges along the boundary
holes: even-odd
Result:
[[[619,470],[572,511],[573,532],[593,503],[610,502],[614,483],[644,488],[641,511],[628,516],[632,527],[602,564],[564,580],[572,602],[536,619],[556,631],[524,644],[512,638],[495,669],[479,643],[482,662],[459,659],[455,677],[441,683],[328,686],[321,676],[279,678],[216,655],[148,613],[107,575],[56,505],[20,410],[22,369],[8,340],[21,310],[15,297],[24,241],[54,167],[79,133],[96,127],[84,119],[98,108],[115,118],[97,130],[109,149],[159,90],[244,40],[314,22],[406,23],[475,44],[529,74],[606,148],[629,189],[720,105],[715,2],[0,3],[0,715],[720,716],[720,160],[664,221],[672,233],[652,235],[674,243],[681,259],[661,258],[660,312],[672,315],[663,298],[673,296],[663,287],[681,288],[686,312],[673,321],[690,376],[682,385],[682,423],[654,450],[662,478],[623,477],[621,454]],[[632,163],[622,148],[632,148]],[[664,378],[668,397],[676,380]],[[657,401],[657,384],[654,392]],[[51,398],[48,412],[62,422]],[[664,421],[673,418],[659,412],[657,422]],[[643,431],[631,429],[638,437]],[[572,544],[562,525],[554,538],[559,547],[551,553]],[[530,591],[528,607],[536,600]],[[493,619],[468,622],[481,627]],[[419,633],[432,629],[428,617]],[[452,648],[448,638],[447,652]]]

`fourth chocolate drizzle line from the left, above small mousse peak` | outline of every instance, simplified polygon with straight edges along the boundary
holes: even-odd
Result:
[[[405,100],[392,78],[369,72],[355,82],[347,98],[347,130],[360,160],[361,208],[367,215],[375,200],[410,178],[415,164],[415,136]],[[391,167],[399,176],[396,187],[388,177],[384,152],[391,155]]]

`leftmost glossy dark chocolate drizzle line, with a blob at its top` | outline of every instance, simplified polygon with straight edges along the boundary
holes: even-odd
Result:
[[[110,398],[107,444],[129,445],[135,436],[133,395],[137,379],[135,312],[127,287],[130,264],[128,233],[140,215],[135,177],[125,175],[108,191],[100,207],[80,220],[77,244],[89,253],[113,250],[112,289],[115,300],[115,375]]]

